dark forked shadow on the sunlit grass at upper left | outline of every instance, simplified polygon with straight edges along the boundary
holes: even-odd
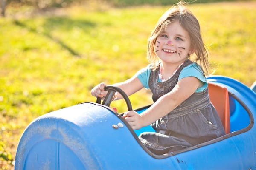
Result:
[[[70,30],[71,28],[73,28],[74,26],[82,28],[83,30],[86,30],[86,28],[93,28],[96,26],[95,23],[89,22],[89,21],[83,21],[83,20],[70,20],[67,18],[63,18],[63,17],[52,17],[49,18],[46,23],[44,24],[44,28],[47,30],[45,32],[38,32],[38,30],[36,28],[32,28],[28,25],[26,25],[25,23],[19,21],[19,20],[15,20],[14,24],[16,26],[20,26],[22,28],[26,28],[27,30],[35,33],[35,34],[40,34],[43,35],[44,37],[49,38],[50,40],[58,43],[59,45],[61,45],[62,48],[66,49],[67,51],[69,51],[69,53],[71,55],[73,55],[74,57],[81,57],[81,55],[75,51],[74,49],[72,49],[70,46],[68,46],[65,42],[63,42],[62,40],[60,40],[58,37],[53,37],[51,34],[49,34],[48,32],[50,32],[50,30],[52,29],[56,29],[56,28],[61,28],[61,29],[65,29],[65,30]]]

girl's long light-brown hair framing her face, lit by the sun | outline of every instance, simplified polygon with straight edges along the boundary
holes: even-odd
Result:
[[[208,74],[208,53],[201,37],[200,25],[196,17],[186,8],[186,3],[179,2],[167,10],[158,20],[154,30],[148,38],[148,61],[153,64],[153,69],[159,66],[160,59],[155,53],[155,43],[157,37],[168,26],[169,23],[179,21],[180,26],[188,33],[195,50],[194,62],[201,65],[205,74]]]

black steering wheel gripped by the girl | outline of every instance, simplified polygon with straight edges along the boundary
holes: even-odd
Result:
[[[111,86],[111,85],[107,85],[104,88],[105,91],[108,91],[108,93],[105,96],[105,99],[102,102],[102,105],[105,106],[110,106],[110,103],[112,102],[113,96],[116,92],[118,92],[119,94],[121,94],[121,96],[125,99],[128,111],[132,111],[132,107],[131,107],[131,101],[129,99],[129,97],[127,96],[127,94],[125,94],[124,91],[122,91],[121,88],[115,87],[115,86]],[[97,103],[101,104],[101,97],[97,97]]]

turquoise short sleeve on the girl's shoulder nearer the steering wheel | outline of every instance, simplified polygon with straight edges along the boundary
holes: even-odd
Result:
[[[149,80],[150,73],[151,73],[151,66],[148,65],[147,67],[142,68],[139,71],[137,71],[137,73],[135,74],[136,77],[140,80],[140,82],[144,86],[144,88],[146,88],[146,89],[149,88],[148,80]]]

